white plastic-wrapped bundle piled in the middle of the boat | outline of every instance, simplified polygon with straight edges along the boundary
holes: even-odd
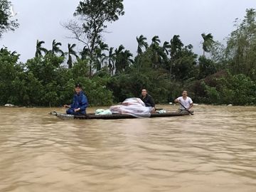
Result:
[[[146,107],[144,102],[136,97],[128,98],[121,105],[110,107],[112,113],[131,114],[134,117],[150,117],[152,107]]]

